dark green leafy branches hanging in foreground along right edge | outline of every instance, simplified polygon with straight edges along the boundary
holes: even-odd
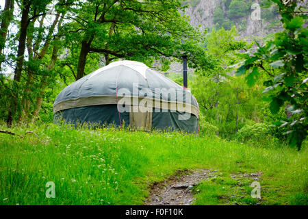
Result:
[[[252,55],[244,55],[246,61],[238,75],[247,74],[246,81],[253,86],[259,75],[267,74],[264,94],[270,99],[270,111],[277,114],[285,106],[286,114],[274,124],[285,129],[291,146],[300,146],[307,137],[307,28],[303,24],[307,16],[296,9],[296,3],[279,6],[284,30],[275,34]]]

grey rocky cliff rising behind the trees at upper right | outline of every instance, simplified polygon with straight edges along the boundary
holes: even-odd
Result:
[[[236,7],[238,5],[235,1],[240,3],[240,7]],[[281,29],[277,8],[260,8],[259,19],[254,19],[256,8],[252,5],[257,3],[261,6],[260,0],[192,0],[185,3],[190,4],[185,10],[185,14],[190,16],[190,23],[194,26],[201,25],[201,29],[222,26],[229,29],[235,25],[244,38],[264,37]],[[238,12],[243,13],[231,14],[231,7],[233,10],[238,8]]]

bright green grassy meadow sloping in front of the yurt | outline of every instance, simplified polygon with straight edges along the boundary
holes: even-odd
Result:
[[[194,205],[307,205],[307,146],[53,124],[11,131],[23,138],[0,133],[0,205],[142,205],[153,182],[197,168],[218,171],[194,189]],[[255,180],[241,177],[252,172],[261,201],[250,196]],[[45,196],[49,181],[55,198]]]

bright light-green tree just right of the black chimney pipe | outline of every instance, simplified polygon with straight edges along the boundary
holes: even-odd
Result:
[[[192,92],[201,106],[201,113],[207,121],[218,127],[218,135],[230,136],[238,129],[238,118],[242,104],[244,88],[236,81],[231,72],[240,60],[240,50],[251,47],[244,40],[235,40],[238,31],[233,27],[230,31],[223,28],[213,29],[207,37],[207,50],[216,57],[216,66],[207,71],[198,72],[193,83]],[[246,92],[246,90],[244,90]],[[246,95],[248,96],[248,95]]]

